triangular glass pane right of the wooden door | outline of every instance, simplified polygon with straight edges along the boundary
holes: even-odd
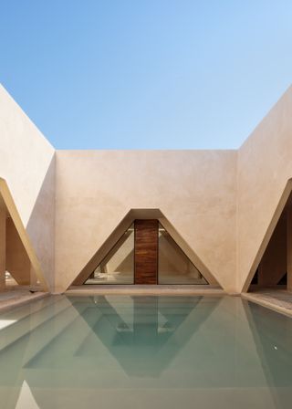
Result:
[[[161,224],[158,248],[159,284],[208,284]]]

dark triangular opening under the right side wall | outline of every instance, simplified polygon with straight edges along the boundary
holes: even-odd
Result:
[[[261,288],[287,289],[289,247],[292,244],[292,194],[276,223],[276,227],[266,246],[249,286],[249,291]],[[290,256],[291,257],[291,256]]]

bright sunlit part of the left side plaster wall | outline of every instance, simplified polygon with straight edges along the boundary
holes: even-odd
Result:
[[[0,136],[0,176],[26,226],[55,150],[1,85]]]

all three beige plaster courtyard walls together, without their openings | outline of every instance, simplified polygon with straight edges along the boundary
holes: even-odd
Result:
[[[227,291],[242,291],[292,178],[292,89],[238,151],[57,151],[0,86],[0,177],[50,288],[64,291],[130,209],[160,209]]]

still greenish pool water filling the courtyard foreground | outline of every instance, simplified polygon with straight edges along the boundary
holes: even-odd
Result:
[[[65,297],[0,316],[0,408],[291,408],[292,319],[237,297]]]

